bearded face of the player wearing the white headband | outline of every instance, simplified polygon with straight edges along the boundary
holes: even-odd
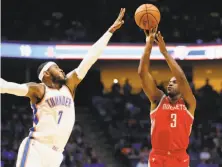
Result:
[[[52,77],[52,81],[55,83],[64,84],[66,81],[66,75],[64,71],[59,68],[57,65],[53,65],[49,68],[50,75]]]

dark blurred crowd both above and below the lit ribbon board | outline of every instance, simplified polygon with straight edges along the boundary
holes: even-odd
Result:
[[[119,9],[125,7],[125,25],[111,41],[140,44],[144,42],[144,34],[133,16],[143,3],[152,3],[160,9],[159,29],[167,42],[221,43],[222,10],[218,0],[3,1],[1,39],[92,43],[112,24]],[[15,60],[17,64],[13,65]],[[75,66],[70,62],[66,68],[73,69]],[[40,61],[2,58],[1,63],[4,79],[20,83],[37,81],[36,67]],[[192,79],[189,81],[197,99],[187,150],[190,166],[218,167],[222,164],[222,87],[216,91],[207,77],[200,88],[195,87]],[[167,81],[158,83],[163,91],[164,82]],[[109,91],[105,87],[95,70],[90,71],[77,89],[77,121],[61,167],[147,167],[151,144],[150,103],[146,95],[142,89],[135,93],[128,79],[124,84],[114,80]],[[1,98],[1,167],[14,167],[19,145],[32,127],[32,110],[28,99],[10,95]]]

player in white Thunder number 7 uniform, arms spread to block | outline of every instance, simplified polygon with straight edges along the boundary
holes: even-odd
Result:
[[[125,8],[108,31],[89,49],[80,65],[67,75],[54,62],[38,68],[42,83],[18,84],[1,78],[1,93],[30,98],[33,128],[19,148],[16,167],[59,167],[75,123],[75,89],[123,21]]]

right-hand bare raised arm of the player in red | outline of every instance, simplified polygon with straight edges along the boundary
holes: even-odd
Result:
[[[160,32],[157,33],[157,40],[155,40],[155,42],[159,45],[160,52],[165,57],[171,72],[173,73],[178,82],[179,91],[182,94],[184,100],[188,103],[189,111],[192,115],[194,115],[194,111],[196,108],[196,99],[193,95],[193,92],[190,88],[190,85],[183,70],[173,59],[173,57],[168,54],[165,42]]]

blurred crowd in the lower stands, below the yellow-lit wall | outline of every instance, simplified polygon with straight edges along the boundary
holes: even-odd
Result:
[[[165,91],[162,85],[158,87]],[[101,138],[106,138],[105,144],[111,147],[105,151],[110,151],[108,155],[115,157],[117,163],[128,167],[147,167],[151,150],[150,103],[142,90],[137,94],[131,91],[132,86],[126,81],[123,86],[114,83],[111,92],[103,93],[101,83],[90,95],[91,102],[84,105],[91,108],[90,112],[85,113],[91,114],[91,117],[80,116],[84,110],[77,107],[77,121],[64,151],[62,167],[106,166],[98,156],[104,151],[100,152],[98,147],[103,145],[92,142]],[[216,92],[206,81],[202,88],[193,91],[197,98],[197,110],[188,148],[190,166],[213,167],[222,164],[222,90]],[[2,167],[12,167],[19,144],[32,125],[32,114],[30,107],[23,104],[26,100],[19,99],[22,105],[18,105],[11,96],[2,98]],[[87,127],[95,126],[91,124],[92,120],[99,130],[90,134]],[[97,136],[90,140],[89,136],[92,135]]]

